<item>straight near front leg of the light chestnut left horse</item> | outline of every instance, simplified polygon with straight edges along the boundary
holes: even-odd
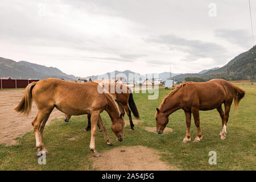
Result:
[[[96,131],[97,131],[97,123],[98,118],[100,116],[100,112],[94,112],[91,114],[91,131],[90,131],[90,150],[93,152],[93,156],[98,158],[100,157],[100,153],[98,153],[95,149],[95,137],[96,137]]]

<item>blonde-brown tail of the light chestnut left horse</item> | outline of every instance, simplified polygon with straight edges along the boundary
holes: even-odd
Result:
[[[27,85],[22,100],[19,102],[19,105],[14,108],[14,110],[16,110],[18,113],[26,115],[30,114],[32,105],[32,89],[35,85],[36,82],[32,82],[31,84]]]

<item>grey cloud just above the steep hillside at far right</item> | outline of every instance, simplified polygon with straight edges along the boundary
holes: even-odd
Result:
[[[230,29],[217,29],[214,30],[214,34],[220,38],[227,40],[232,44],[237,44],[243,48],[251,47],[251,35],[247,30],[230,30]]]

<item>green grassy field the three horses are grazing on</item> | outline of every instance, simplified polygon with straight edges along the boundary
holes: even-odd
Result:
[[[230,111],[226,140],[221,140],[221,118],[217,110],[200,111],[203,140],[199,143],[181,143],[186,133],[185,115],[178,110],[170,115],[168,127],[174,132],[163,135],[144,130],[155,127],[155,108],[160,105],[170,90],[159,90],[158,100],[147,100],[148,94],[134,94],[142,122],[134,131],[125,127],[125,139],[118,142],[110,130],[110,118],[104,111],[102,119],[114,146],[105,143],[102,133],[97,133],[96,148],[99,152],[118,146],[142,145],[160,151],[161,159],[183,170],[255,170],[256,144],[256,84],[236,84],[246,90],[237,113]],[[127,116],[125,117],[126,119]],[[3,118],[2,118],[3,119]],[[39,165],[35,155],[34,131],[19,138],[16,146],[0,146],[1,170],[92,170],[92,152],[89,151],[90,132],[85,132],[86,115],[72,117],[65,123],[56,119],[44,129],[44,144],[49,151],[47,164]],[[75,137],[75,140],[68,140]],[[191,125],[192,140],[196,127]],[[208,163],[209,151],[216,151],[217,164]]]

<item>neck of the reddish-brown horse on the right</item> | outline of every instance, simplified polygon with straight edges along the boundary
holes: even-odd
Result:
[[[179,92],[171,94],[167,96],[160,106],[160,111],[163,113],[167,113],[168,115],[174,113],[176,110],[180,109],[180,99],[179,99]]]

